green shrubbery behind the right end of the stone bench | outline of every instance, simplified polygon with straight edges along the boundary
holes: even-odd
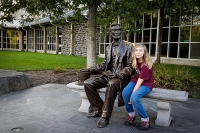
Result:
[[[194,95],[198,88],[198,80],[188,66],[155,64],[154,76],[154,87],[157,88],[187,91],[189,95]]]

